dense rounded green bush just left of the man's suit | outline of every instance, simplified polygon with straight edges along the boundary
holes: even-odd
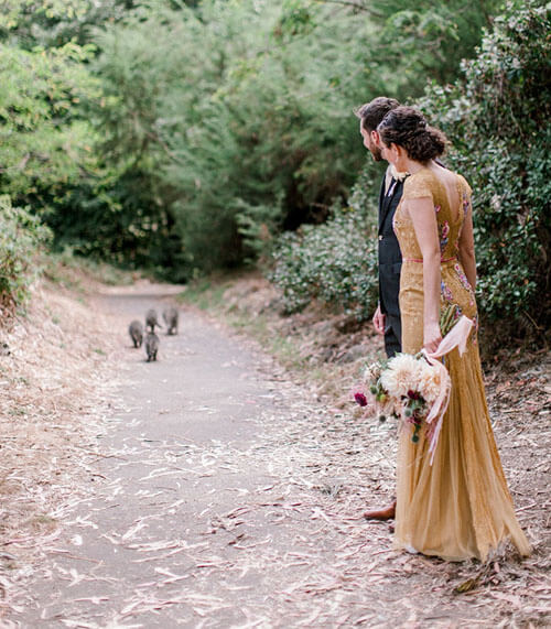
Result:
[[[283,294],[287,314],[312,300],[342,307],[358,319],[377,304],[376,232],[360,212],[338,209],[324,225],[281,236],[269,278]]]

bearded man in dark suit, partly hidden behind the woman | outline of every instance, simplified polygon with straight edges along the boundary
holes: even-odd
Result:
[[[359,130],[364,147],[376,162],[382,160],[380,139],[377,132],[379,122],[400,104],[393,98],[380,96],[366,102],[356,111],[360,119]],[[402,256],[392,229],[392,218],[403,191],[403,173],[389,166],[381,182],[379,193],[379,303],[372,318],[375,329],[385,335],[385,349],[390,358],[401,350],[401,323],[398,293],[400,292],[400,270]],[[366,511],[368,520],[389,520],[395,517],[396,501],[386,509]]]

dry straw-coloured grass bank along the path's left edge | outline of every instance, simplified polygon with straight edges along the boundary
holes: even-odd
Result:
[[[0,617],[57,534],[52,513],[79,498],[114,387],[109,329],[82,295],[47,283],[0,328]]]

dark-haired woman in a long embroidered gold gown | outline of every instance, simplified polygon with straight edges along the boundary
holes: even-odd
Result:
[[[409,172],[395,215],[402,252],[402,350],[434,351],[442,339],[442,306],[474,323],[466,351],[444,358],[452,380],[450,404],[431,465],[429,442],[400,433],[396,546],[445,560],[485,561],[510,538],[521,554],[530,546],[512,506],[486,405],[477,346],[476,265],[471,188],[434,160],[445,137],[410,107],[393,109],[377,131],[382,156]]]

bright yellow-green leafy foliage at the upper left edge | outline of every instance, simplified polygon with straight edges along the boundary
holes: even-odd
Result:
[[[15,205],[47,214],[95,163],[80,110],[99,96],[90,55],[76,44],[29,52],[0,42],[0,186]]]

